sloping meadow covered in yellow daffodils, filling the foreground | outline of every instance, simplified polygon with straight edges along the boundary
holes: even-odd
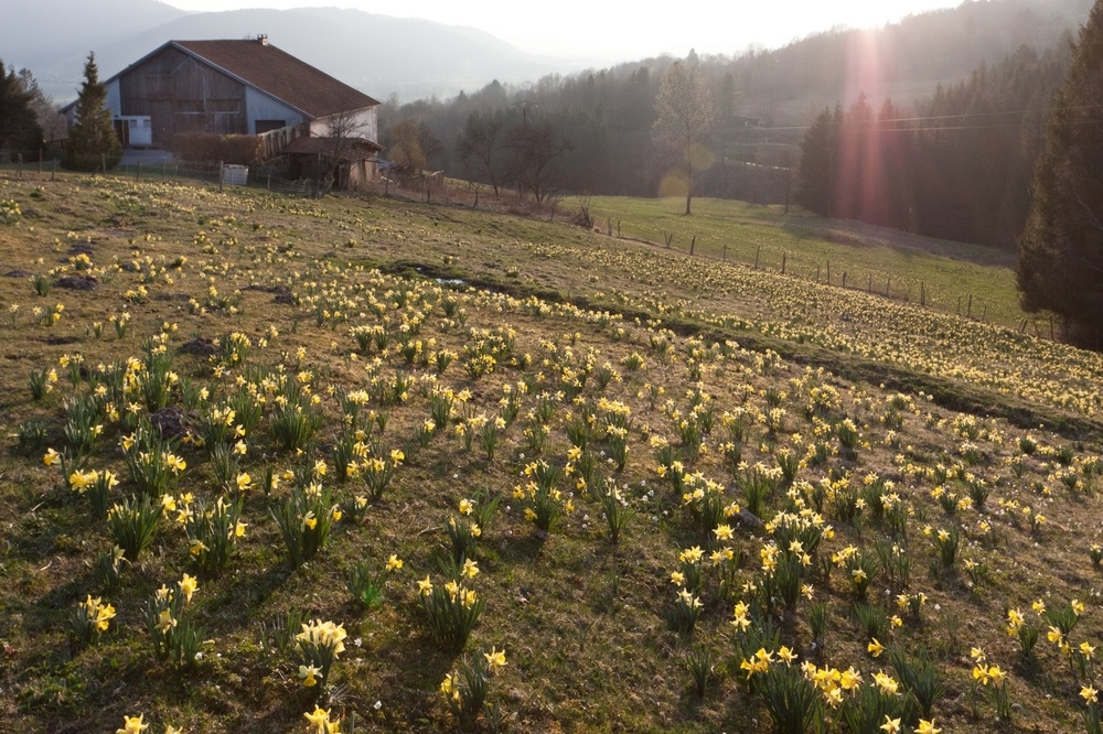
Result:
[[[3,721],[1084,731],[1100,356],[938,244],[614,206],[708,234],[0,182]]]

